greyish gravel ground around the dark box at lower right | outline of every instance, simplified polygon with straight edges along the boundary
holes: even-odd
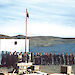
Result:
[[[61,65],[40,65],[40,71],[46,73],[60,73]],[[75,65],[72,65],[72,73],[75,74]]]

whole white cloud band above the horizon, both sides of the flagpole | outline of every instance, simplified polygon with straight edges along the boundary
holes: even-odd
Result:
[[[25,23],[12,22],[6,26],[0,27],[1,34],[14,36],[18,34],[25,35]],[[59,36],[59,37],[74,37],[75,28],[58,24],[49,24],[48,22],[29,22],[28,21],[28,36]]]

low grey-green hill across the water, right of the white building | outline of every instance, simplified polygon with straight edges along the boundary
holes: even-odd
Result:
[[[52,46],[54,44],[75,43],[75,39],[65,39],[52,36],[37,36],[30,38],[30,46]]]

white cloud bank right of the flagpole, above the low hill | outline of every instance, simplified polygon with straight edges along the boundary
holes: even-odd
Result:
[[[32,23],[29,25],[28,34],[35,35],[44,35],[44,36],[60,36],[60,37],[74,37],[75,28],[71,26],[63,26],[57,24],[48,24],[48,23]]]

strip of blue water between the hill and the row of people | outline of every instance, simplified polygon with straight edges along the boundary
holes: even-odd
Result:
[[[73,53],[75,55],[75,43],[73,44],[56,44],[49,47],[30,47],[31,52],[39,52],[39,53]]]

